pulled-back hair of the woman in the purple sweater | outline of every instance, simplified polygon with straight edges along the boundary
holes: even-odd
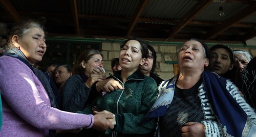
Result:
[[[28,31],[32,28],[39,28],[39,29],[41,29],[42,31],[45,32],[44,27],[40,23],[32,21],[32,20],[20,21],[20,22],[14,23],[12,28],[9,31],[9,34],[8,34],[8,37],[7,37],[8,38],[8,42],[7,42],[8,44],[5,45],[5,49],[8,50],[9,48],[14,47],[13,43],[11,42],[12,37],[14,35],[17,35],[18,37],[23,38],[28,33]]]

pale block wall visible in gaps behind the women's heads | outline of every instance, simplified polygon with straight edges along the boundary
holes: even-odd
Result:
[[[102,54],[104,57],[104,68],[108,76],[109,73],[112,73],[111,69],[111,60],[113,58],[119,57],[120,45],[122,43],[111,43],[111,42],[102,42]],[[148,43],[154,47],[157,52],[157,68],[156,73],[160,75],[162,79],[169,79],[174,76],[174,64],[177,64],[177,52],[180,47],[180,43],[177,44],[155,44]],[[208,45],[208,44],[207,44]],[[239,47],[239,46],[230,46],[232,50],[242,49],[250,52],[253,57],[256,56],[256,48],[249,46]]]

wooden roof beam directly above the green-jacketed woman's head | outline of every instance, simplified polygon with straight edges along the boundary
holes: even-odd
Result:
[[[142,14],[142,12],[144,11],[144,9],[146,8],[146,5],[148,4],[150,0],[140,0],[139,1],[139,4],[134,12],[134,16],[132,17],[132,20],[126,30],[126,36],[129,36],[133,29],[134,29],[134,26],[135,24],[138,22],[139,18],[140,18],[140,15]]]

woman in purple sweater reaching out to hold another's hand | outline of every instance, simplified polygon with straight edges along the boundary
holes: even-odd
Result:
[[[3,127],[0,136],[55,136],[53,130],[114,128],[113,114],[83,115],[60,111],[45,74],[32,67],[46,52],[45,32],[36,22],[17,22],[0,57]],[[109,113],[109,112],[105,112]]]

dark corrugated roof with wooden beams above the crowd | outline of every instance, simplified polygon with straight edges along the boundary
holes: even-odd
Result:
[[[162,40],[198,37],[205,40],[227,41],[237,41],[238,38],[246,40],[256,36],[252,32],[256,28],[255,1],[221,0],[221,2],[218,0],[3,0],[0,2],[0,13],[3,13],[0,21],[10,23],[26,18],[37,19],[45,24],[50,36],[53,34],[53,36],[119,38],[133,35]],[[219,15],[221,5],[224,16]],[[78,17],[75,13],[78,13]],[[243,18],[239,16],[240,13],[249,16]],[[248,34],[241,35],[234,32],[243,32],[243,34],[248,32]],[[232,34],[232,37],[227,34]],[[236,35],[236,39],[233,35]]]

